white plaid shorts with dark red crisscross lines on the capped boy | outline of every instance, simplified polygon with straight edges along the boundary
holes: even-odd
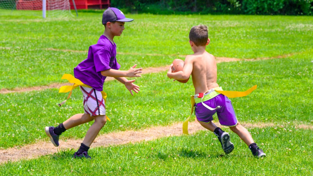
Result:
[[[83,93],[85,113],[90,116],[105,115],[105,104],[101,92],[84,86],[80,86],[80,90]]]

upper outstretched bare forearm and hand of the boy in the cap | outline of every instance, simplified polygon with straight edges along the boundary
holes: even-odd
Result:
[[[142,73],[142,68],[135,68],[137,65],[135,64],[129,70],[115,70],[115,69],[107,69],[101,71],[102,76],[109,77],[141,77],[141,75],[137,75],[138,73]]]

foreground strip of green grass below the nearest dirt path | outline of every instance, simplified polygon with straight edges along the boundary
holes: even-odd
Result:
[[[1,175],[312,175],[311,130],[249,129],[266,151],[254,158],[234,133],[235,150],[223,155],[216,136],[208,131],[154,141],[91,148],[94,157],[72,159],[74,150],[38,159],[9,162]],[[305,138],[301,136],[306,136]],[[43,167],[44,166],[44,167]]]

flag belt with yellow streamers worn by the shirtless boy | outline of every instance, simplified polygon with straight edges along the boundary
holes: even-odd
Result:
[[[244,92],[226,91],[226,90],[222,90],[220,87],[217,87],[217,88],[214,88],[214,91],[212,93],[209,93],[208,96],[198,98],[197,103],[209,100],[209,99],[217,96],[218,94],[223,94],[223,95],[227,96],[228,98],[244,97],[244,96],[249,95],[252,91],[254,91],[256,89],[256,87],[257,87],[257,85],[254,85],[253,87],[249,88],[248,90],[246,90]],[[199,101],[199,100],[201,100],[201,101]],[[194,95],[192,95],[191,96],[191,113],[190,113],[190,116],[182,123],[182,133],[184,133],[184,134],[188,134],[188,121],[189,121],[190,117],[192,116],[195,103],[196,103],[196,101],[195,101]],[[210,107],[207,107],[207,108],[210,109]],[[212,109],[212,110],[214,110],[214,109]]]

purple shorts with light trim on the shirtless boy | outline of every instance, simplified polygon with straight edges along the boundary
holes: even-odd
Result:
[[[203,104],[195,104],[195,113],[198,121],[203,123],[210,123],[213,120],[213,114],[217,113],[218,121],[223,126],[236,126],[238,121],[236,117],[235,110],[233,108],[232,102],[223,94],[218,94],[216,97],[204,101],[206,105],[211,108],[216,108],[214,110],[209,110]]]

